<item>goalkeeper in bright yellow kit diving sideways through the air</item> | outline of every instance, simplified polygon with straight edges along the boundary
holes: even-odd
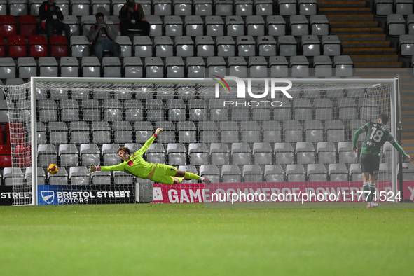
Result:
[[[90,174],[95,171],[124,171],[128,174],[133,174],[135,177],[142,179],[151,179],[155,183],[163,184],[179,184],[183,179],[196,179],[204,182],[205,184],[210,184],[211,181],[205,177],[200,177],[197,174],[191,172],[183,172],[177,170],[176,167],[165,164],[154,164],[148,163],[142,155],[144,152],[153,144],[157,135],[162,132],[162,128],[157,128],[156,133],[145,142],[144,146],[141,149],[132,154],[130,149],[125,146],[122,146],[118,149],[118,156],[123,160],[123,163],[113,166],[95,166],[95,164],[88,167]]]

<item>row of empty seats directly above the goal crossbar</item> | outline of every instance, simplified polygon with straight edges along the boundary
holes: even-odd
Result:
[[[321,56],[324,57],[324,56]],[[1,78],[27,78],[29,76],[70,76],[70,77],[121,77],[127,78],[205,78],[223,75],[230,70],[233,76],[265,78],[265,77],[305,77],[305,76],[352,76],[353,62],[349,56],[333,57],[333,62],[327,58],[316,57],[310,68],[310,62],[305,56],[291,57],[207,57],[207,63],[202,57],[145,57],[144,63],[139,57],[128,57],[121,63],[118,57],[104,57],[102,64],[97,57],[83,57],[78,63],[76,57],[62,57],[57,63],[55,57],[40,57],[36,62],[33,57],[21,58],[16,66],[11,57],[0,58]],[[289,69],[290,68],[290,69]]]

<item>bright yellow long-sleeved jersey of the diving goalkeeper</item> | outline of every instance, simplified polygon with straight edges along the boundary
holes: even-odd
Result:
[[[134,174],[136,177],[146,179],[155,164],[146,162],[146,160],[142,158],[142,155],[149,148],[149,146],[153,144],[155,139],[155,136],[148,139],[141,149],[135,151],[135,153],[131,155],[130,160],[124,161],[118,165],[102,166],[100,167],[101,171],[124,171],[128,174]]]

